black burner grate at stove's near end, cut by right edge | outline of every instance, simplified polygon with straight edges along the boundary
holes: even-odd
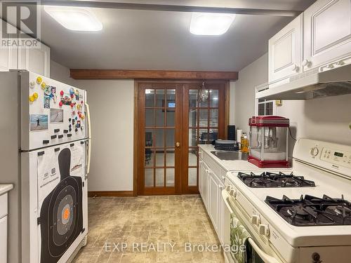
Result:
[[[306,195],[299,199],[267,196],[265,202],[294,226],[351,225],[351,203],[341,198]]]

